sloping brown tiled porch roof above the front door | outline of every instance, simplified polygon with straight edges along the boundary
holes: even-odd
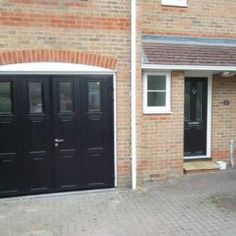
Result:
[[[236,47],[143,42],[145,64],[236,66]]]

